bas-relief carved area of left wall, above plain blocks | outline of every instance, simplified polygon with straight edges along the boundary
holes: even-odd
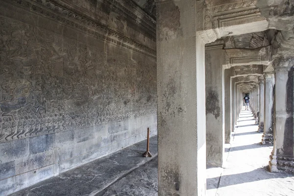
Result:
[[[0,142],[156,113],[153,59],[4,17],[0,29]]]

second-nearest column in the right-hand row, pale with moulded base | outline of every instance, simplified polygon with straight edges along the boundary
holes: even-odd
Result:
[[[274,74],[265,73],[264,134],[262,144],[273,145],[273,87]]]

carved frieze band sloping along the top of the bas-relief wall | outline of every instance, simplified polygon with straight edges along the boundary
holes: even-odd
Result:
[[[49,17],[66,25],[70,25],[73,28],[77,28],[81,31],[84,31],[85,33],[96,36],[112,44],[121,46],[125,49],[156,58],[155,50],[115,32],[110,27],[108,28],[95,23],[92,20],[82,17],[77,13],[74,13],[73,11],[61,7],[48,0],[8,0],[8,2],[15,3],[30,9],[30,11],[36,12],[45,17]]]

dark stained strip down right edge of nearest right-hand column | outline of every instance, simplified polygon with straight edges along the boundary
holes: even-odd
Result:
[[[284,130],[284,145],[281,150],[283,150],[284,155],[292,155],[294,154],[294,122],[293,122],[293,79],[294,79],[294,68],[288,72],[288,80],[286,83],[286,113],[290,114],[290,117],[286,119],[285,122],[285,130]],[[279,152],[281,153],[281,152]]]

